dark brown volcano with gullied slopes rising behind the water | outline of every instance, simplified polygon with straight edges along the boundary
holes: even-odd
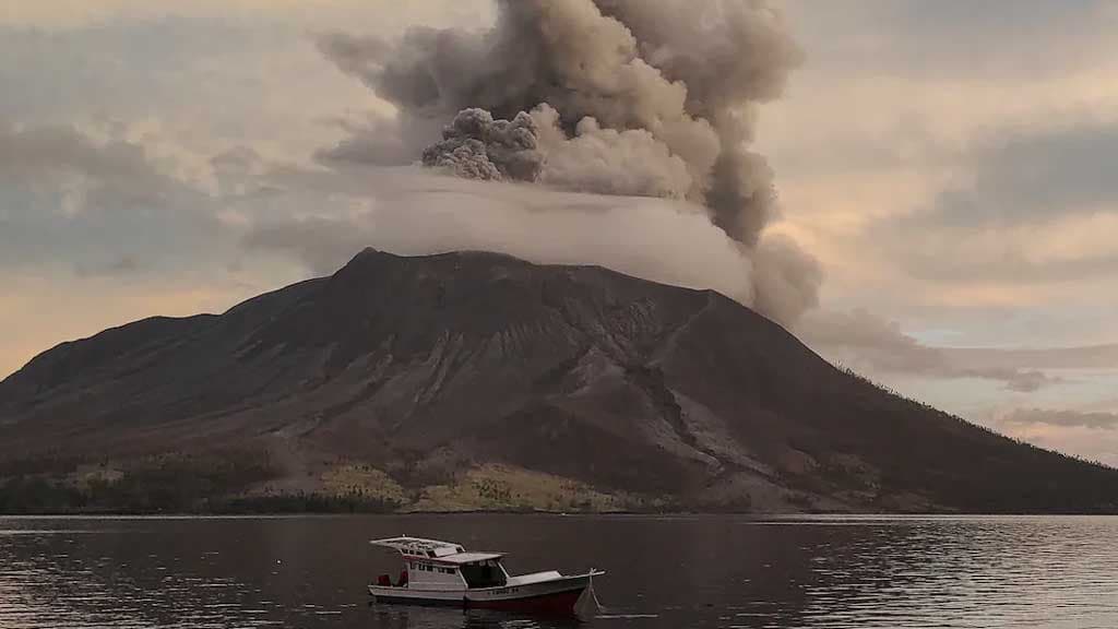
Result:
[[[367,250],[221,316],[64,344],[0,383],[0,476],[169,453],[260,461],[214,491],[423,508],[562,505],[514,491],[542,482],[523,475],[615,505],[1118,508],[1115,470],[882,392],[722,295],[487,253]]]

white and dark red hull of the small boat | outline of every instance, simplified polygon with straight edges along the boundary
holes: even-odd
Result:
[[[420,590],[370,585],[377,603],[492,609],[522,613],[576,614],[591,574],[479,590]]]

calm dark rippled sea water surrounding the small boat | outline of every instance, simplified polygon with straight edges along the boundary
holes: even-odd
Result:
[[[1118,518],[477,515],[0,518],[0,628],[569,626],[370,607],[400,534],[605,569],[590,629],[1118,627]]]

